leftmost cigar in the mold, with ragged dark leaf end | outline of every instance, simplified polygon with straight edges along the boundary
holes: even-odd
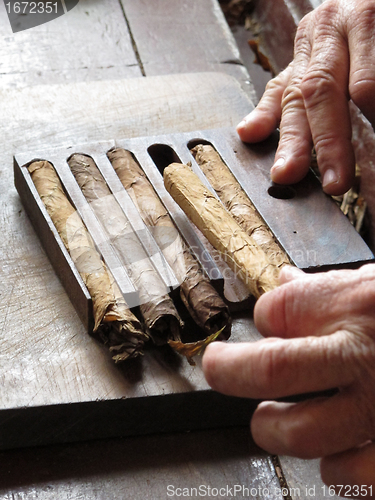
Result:
[[[90,234],[66,197],[55,169],[47,161],[36,161],[28,170],[91,295],[94,332],[108,345],[116,362],[141,354],[148,336],[127,307]]]

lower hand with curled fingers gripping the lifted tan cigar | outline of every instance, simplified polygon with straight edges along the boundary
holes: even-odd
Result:
[[[214,390],[268,399],[251,431],[272,454],[323,457],[329,485],[373,485],[375,493],[375,264],[359,270],[281,272],[281,285],[256,303],[269,338],[209,345],[203,370]],[[338,388],[331,397],[272,401]]]

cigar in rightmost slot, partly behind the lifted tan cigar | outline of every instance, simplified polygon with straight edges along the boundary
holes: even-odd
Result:
[[[290,264],[288,256],[218,152],[211,145],[198,144],[191,153],[225,208],[264,250],[269,262],[277,267]]]

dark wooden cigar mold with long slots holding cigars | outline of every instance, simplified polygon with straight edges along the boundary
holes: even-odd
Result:
[[[317,271],[357,267],[373,260],[373,255],[365,242],[336,204],[322,192],[319,181],[312,172],[293,186],[272,185],[269,180],[269,169],[272,166],[275,147],[275,141],[272,139],[262,144],[248,146],[238,140],[234,131],[223,129],[124,139],[18,154],[14,158],[16,188],[56,273],[88,331],[93,325],[90,296],[40,200],[26,168],[27,165],[38,158],[47,160],[54,166],[68,198],[93,237],[125,300],[132,306],[138,300],[137,290],[86,202],[67,161],[75,153],[82,153],[94,160],[166,288],[173,294],[173,291],[178,289],[178,280],[107,156],[113,148],[129,151],[152,184],[191,253],[215,288],[222,293],[223,273],[230,274],[230,271],[213,252],[204,236],[193,227],[172,200],[162,178],[164,168],[170,163],[189,164],[213,191],[191,153],[191,149],[198,144],[210,144],[219,153],[292,264],[304,270]],[[232,279],[236,278],[232,276]],[[233,300],[233,308],[235,302],[236,299]],[[238,302],[241,302],[241,298],[238,298]]]

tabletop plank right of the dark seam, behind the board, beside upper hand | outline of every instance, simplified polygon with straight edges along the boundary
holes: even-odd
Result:
[[[220,71],[253,88],[217,0],[121,0],[146,76]]]

